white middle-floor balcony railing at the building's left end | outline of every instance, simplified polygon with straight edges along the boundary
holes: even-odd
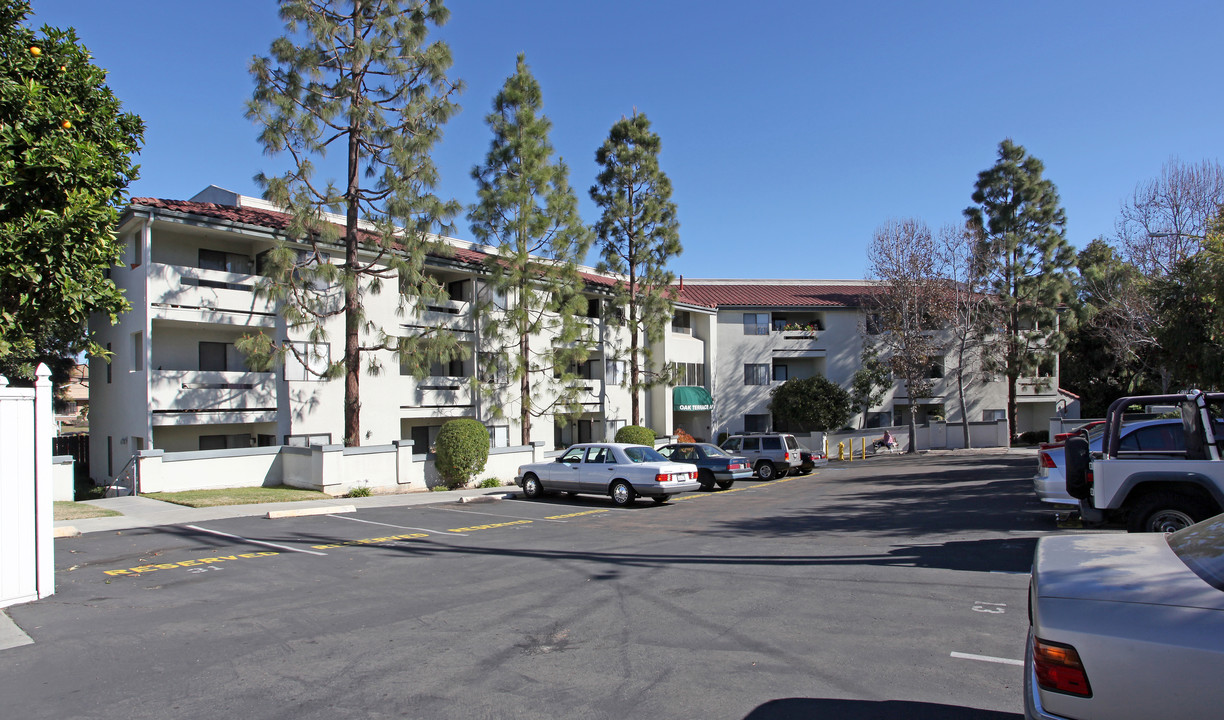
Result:
[[[149,409],[155,413],[275,410],[277,383],[271,372],[152,370]]]

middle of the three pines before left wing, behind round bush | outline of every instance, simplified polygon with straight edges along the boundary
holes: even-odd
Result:
[[[485,164],[472,170],[479,202],[468,213],[476,239],[496,250],[486,266],[491,295],[508,300],[506,309],[488,298],[479,305],[481,375],[493,380],[506,372],[518,382],[523,444],[531,442],[532,418],[581,411],[581,387],[572,381],[588,359],[578,263],[591,233],[578,214],[569,169],[559,158],[552,162],[552,122],[542,107],[540,83],[519,55],[486,116],[493,141]],[[481,384],[488,394],[501,393],[496,380]]]

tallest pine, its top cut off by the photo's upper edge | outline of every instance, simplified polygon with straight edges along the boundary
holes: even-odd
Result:
[[[459,204],[433,195],[430,151],[458,109],[452,98],[460,84],[447,78],[449,48],[427,43],[427,34],[449,11],[441,0],[282,0],[280,17],[289,34],[272,43],[271,58],[252,60],[247,115],[263,125],[264,151],[288,153],[291,168],[256,179],[264,197],[293,216],[288,235],[312,247],[282,244],[268,257],[264,290],[280,301],[291,338],[261,333],[240,347],[253,366],[293,354],[312,370],[328,338],[324,324],[343,317],[344,355],[318,375],[344,377],[344,443],[355,446],[364,365],[377,373],[379,355],[394,353],[424,376],[431,362],[463,353],[449,333],[389,336],[365,313],[365,296],[387,282],[398,288],[403,312],[444,295],[424,264],[430,252],[444,252],[430,231],[448,229]],[[343,158],[339,186],[315,179],[313,160],[329,151]],[[344,227],[327,222],[326,212],[344,214]],[[333,260],[337,244],[343,257]]]

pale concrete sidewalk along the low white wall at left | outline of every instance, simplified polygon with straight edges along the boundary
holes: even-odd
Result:
[[[406,507],[414,504],[439,504],[448,502],[496,502],[515,497],[518,487],[477,487],[471,490],[448,490],[442,492],[405,492],[400,495],[375,495],[371,497],[329,497],[326,500],[302,500],[296,502],[264,502],[256,504],[225,504],[218,507],[186,507],[162,502],[152,497],[106,497],[89,500],[82,504],[106,508],[122,513],[109,518],[86,518],[78,520],[58,520],[56,536],[73,536],[77,533],[108,533],[130,530],[133,528],[153,528],[157,525],[186,525],[225,518],[245,518],[266,516],[277,511],[310,511],[315,508],[355,507]],[[75,530],[75,531],[73,531]]]

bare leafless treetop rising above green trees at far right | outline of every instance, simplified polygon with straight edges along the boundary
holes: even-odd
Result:
[[[1212,218],[1224,203],[1224,167],[1171,158],[1155,180],[1140,184],[1122,203],[1116,223],[1126,260],[1143,274],[1169,274],[1179,260],[1198,252]]]

